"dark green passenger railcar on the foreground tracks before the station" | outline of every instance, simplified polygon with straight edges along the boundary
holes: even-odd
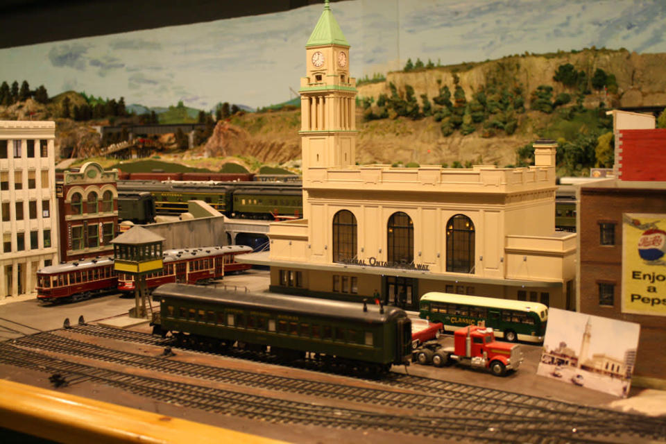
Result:
[[[309,357],[366,374],[407,365],[411,356],[411,321],[395,307],[187,284],[162,285],[153,299],[160,301],[153,332],[180,343]]]

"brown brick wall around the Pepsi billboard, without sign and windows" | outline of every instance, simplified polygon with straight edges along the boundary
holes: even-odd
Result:
[[[580,301],[581,313],[640,324],[635,375],[666,379],[666,317],[622,313],[622,213],[666,214],[666,190],[591,188],[581,189]],[[613,222],[615,245],[599,244],[599,222]],[[612,307],[599,305],[598,282],[615,284]]]

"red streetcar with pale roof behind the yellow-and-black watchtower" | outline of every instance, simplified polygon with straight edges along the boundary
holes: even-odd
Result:
[[[146,285],[148,289],[154,289],[171,282],[196,284],[221,279],[225,273],[250,268],[250,264],[236,262],[236,255],[252,253],[252,251],[252,247],[244,245],[164,250],[162,260],[164,267],[161,271],[146,275]],[[134,293],[135,289],[136,284],[132,275],[118,274],[119,291]]]

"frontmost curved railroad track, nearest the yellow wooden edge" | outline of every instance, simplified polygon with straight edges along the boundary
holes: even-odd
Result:
[[[345,429],[380,429],[402,434],[454,438],[458,441],[486,443],[594,443],[608,442],[590,436],[585,429],[572,431],[570,424],[549,420],[547,424],[528,420],[479,420],[477,412],[462,417],[404,416],[372,413],[359,409],[326,407],[265,396],[236,393],[219,388],[173,382],[155,377],[130,375],[114,370],[87,366],[46,357],[11,344],[0,344],[0,362],[65,374],[68,378],[87,379],[108,384],[137,395],[214,413],[257,418],[271,422],[298,423]],[[606,425],[608,428],[610,425]],[[616,440],[626,442],[626,439]]]

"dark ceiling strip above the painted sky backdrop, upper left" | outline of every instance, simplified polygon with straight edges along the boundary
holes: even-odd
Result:
[[[0,0],[0,48],[211,22],[315,3],[323,0]]]

